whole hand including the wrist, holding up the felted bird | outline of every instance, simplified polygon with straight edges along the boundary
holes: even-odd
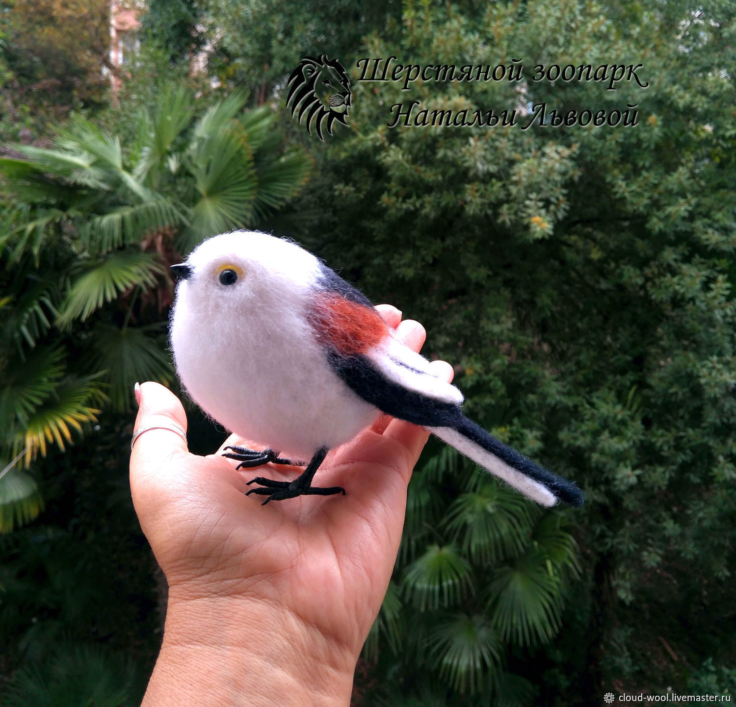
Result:
[[[381,305],[418,351],[425,330]],[[445,362],[433,364],[452,378]],[[144,383],[135,429],[186,429],[180,401]],[[318,411],[316,411],[318,413]],[[169,583],[161,653],[144,707],[188,704],[347,705],[355,662],[381,607],[398,552],[406,487],[428,433],[382,417],[330,452],[319,486],[347,496],[302,496],[261,506],[250,478],[292,480],[301,469],[236,471],[227,445],[191,455],[170,430],[149,430],[130,460],[133,502]]]

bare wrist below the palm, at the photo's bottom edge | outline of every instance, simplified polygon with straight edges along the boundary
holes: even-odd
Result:
[[[170,594],[141,707],[347,707],[357,658],[283,605]]]

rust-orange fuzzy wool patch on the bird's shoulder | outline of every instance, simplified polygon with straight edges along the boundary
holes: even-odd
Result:
[[[330,292],[314,296],[310,323],[319,341],[343,356],[364,353],[389,335],[386,322],[375,309]]]

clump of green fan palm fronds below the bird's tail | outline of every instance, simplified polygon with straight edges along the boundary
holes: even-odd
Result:
[[[364,648],[381,675],[375,699],[420,689],[451,705],[528,703],[530,686],[507,656],[559,630],[580,572],[571,529],[464,469],[454,450],[432,457],[409,484],[396,581]]]

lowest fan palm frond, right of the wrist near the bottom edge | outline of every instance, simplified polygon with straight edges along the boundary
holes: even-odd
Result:
[[[486,617],[456,614],[440,620],[429,636],[439,673],[459,692],[477,692],[498,667],[501,640]]]

